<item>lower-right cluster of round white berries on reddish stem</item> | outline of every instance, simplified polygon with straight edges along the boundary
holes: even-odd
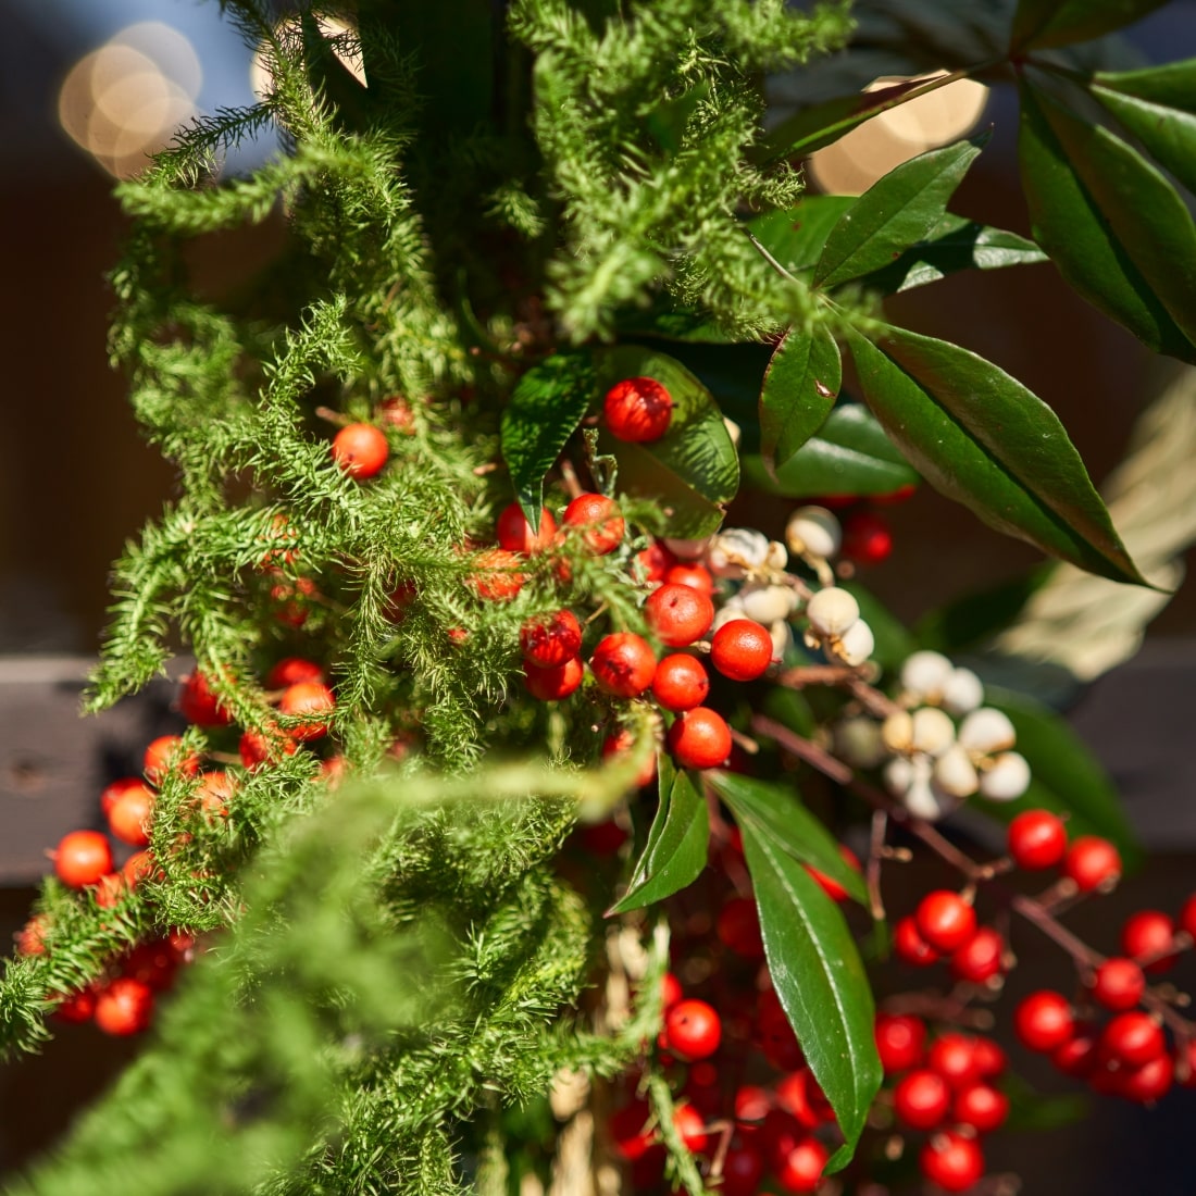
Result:
[[[901,671],[902,708],[884,721],[843,720],[836,746],[858,768],[883,765],[889,792],[920,818],[940,818],[975,793],[1012,801],[1026,792],[1030,765],[1012,750],[1013,724],[983,701],[984,687],[970,669],[938,652],[915,652]]]

